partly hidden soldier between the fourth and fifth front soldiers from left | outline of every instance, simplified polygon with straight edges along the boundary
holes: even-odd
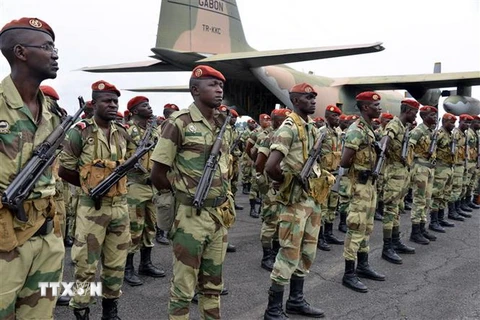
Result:
[[[320,134],[325,134],[322,143],[321,163],[324,169],[332,174],[336,174],[340,165],[341,147],[339,137],[336,132],[338,127],[338,117],[342,111],[333,105],[325,108],[325,118],[327,125],[320,128]],[[324,251],[330,251],[329,244],[343,244],[343,240],[337,239],[333,235],[333,221],[335,220],[335,211],[338,206],[338,193],[330,192],[326,203],[322,204],[322,222],[320,234],[318,236],[318,248]],[[325,233],[324,233],[325,229]]]

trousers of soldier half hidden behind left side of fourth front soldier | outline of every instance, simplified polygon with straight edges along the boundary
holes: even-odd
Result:
[[[272,241],[278,239],[278,215],[283,205],[275,201],[276,196],[270,189],[262,203],[262,228],[260,242],[263,248],[272,248]]]

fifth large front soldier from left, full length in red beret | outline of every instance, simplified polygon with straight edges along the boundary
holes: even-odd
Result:
[[[377,159],[374,147],[375,133],[371,127],[373,118],[380,115],[380,96],[372,91],[359,93],[355,100],[361,117],[345,134],[345,147],[340,161],[338,179],[351,180],[352,198],[348,208],[343,257],[345,258],[344,286],[358,292],[368,288],[357,275],[384,281],[385,276],[373,270],[368,263],[369,240],[373,232],[373,216],[376,204],[376,188],[372,175]],[[355,271],[355,260],[358,264]]]

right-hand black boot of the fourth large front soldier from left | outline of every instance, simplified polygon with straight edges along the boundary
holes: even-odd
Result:
[[[312,318],[323,318],[325,312],[322,309],[312,307],[303,295],[303,284],[305,279],[292,276],[290,279],[290,295],[287,303],[285,304],[285,310],[287,313],[300,314],[302,316]]]

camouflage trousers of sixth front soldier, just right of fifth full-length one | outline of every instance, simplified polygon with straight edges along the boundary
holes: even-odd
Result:
[[[407,167],[400,162],[388,164],[384,173],[384,214],[383,230],[400,226],[400,204],[408,192],[410,175]]]

